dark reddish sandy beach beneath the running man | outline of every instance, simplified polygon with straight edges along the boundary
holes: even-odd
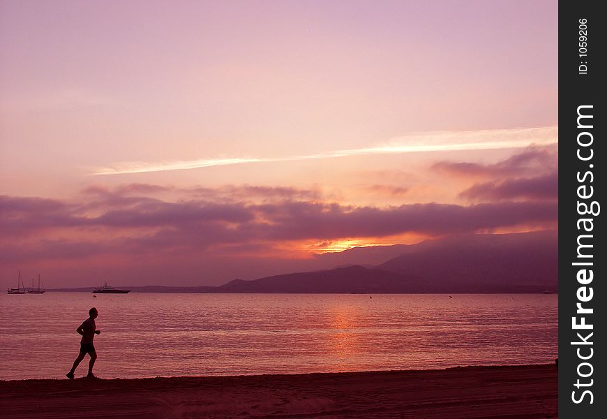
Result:
[[[557,418],[557,369],[0,381],[0,416]]]

